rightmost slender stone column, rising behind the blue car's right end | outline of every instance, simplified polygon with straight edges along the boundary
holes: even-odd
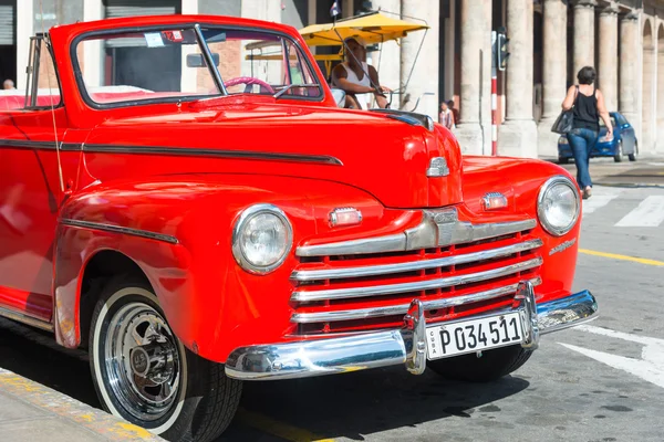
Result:
[[[620,112],[627,122],[641,127],[637,112],[637,76],[639,65],[639,15],[629,13],[621,19],[620,27]]]

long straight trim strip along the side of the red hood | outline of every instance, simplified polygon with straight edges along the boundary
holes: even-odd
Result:
[[[343,166],[340,159],[326,155],[280,154],[270,151],[224,150],[210,148],[188,148],[167,146],[128,146],[128,145],[89,145],[83,150],[91,154],[139,154],[139,155],[178,155],[193,157],[217,157],[260,159],[273,161],[318,162],[322,165]]]

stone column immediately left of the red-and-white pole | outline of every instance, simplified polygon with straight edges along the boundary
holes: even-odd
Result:
[[[456,136],[464,154],[491,149],[491,0],[461,0],[461,96]]]

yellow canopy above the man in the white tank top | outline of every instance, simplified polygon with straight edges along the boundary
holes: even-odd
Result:
[[[392,19],[375,12],[336,23],[312,24],[300,30],[309,46],[341,45],[349,36],[361,38],[366,44],[401,39],[409,32],[428,29],[426,24]]]

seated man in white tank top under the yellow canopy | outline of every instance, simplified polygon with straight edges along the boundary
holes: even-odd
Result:
[[[365,62],[366,49],[363,42],[357,38],[349,36],[344,40],[344,48],[345,61],[332,70],[332,84],[345,91],[345,107],[367,108],[371,98],[367,94],[374,94],[378,107],[387,107],[384,93],[390,90],[381,86],[377,71]]]

